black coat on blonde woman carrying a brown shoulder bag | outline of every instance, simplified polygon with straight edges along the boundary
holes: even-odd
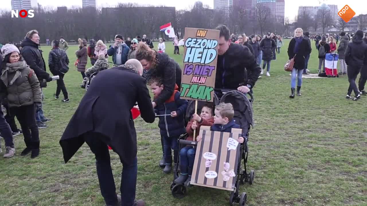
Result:
[[[292,59],[294,57],[294,47],[296,45],[296,40],[292,38],[288,46],[288,58]],[[301,41],[299,45],[298,53],[294,58],[294,68],[297,70],[305,69],[305,56],[311,53],[310,44],[306,39]]]

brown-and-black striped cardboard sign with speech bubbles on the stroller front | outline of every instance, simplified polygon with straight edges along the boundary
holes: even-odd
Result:
[[[190,184],[233,191],[237,180],[237,167],[241,129],[229,132],[210,131],[201,126],[202,140],[197,144],[194,167]]]

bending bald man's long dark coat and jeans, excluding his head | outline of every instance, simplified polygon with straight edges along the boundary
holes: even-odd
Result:
[[[95,154],[99,187],[107,206],[145,205],[143,201],[135,202],[137,133],[131,108],[137,102],[141,117],[149,123],[154,122],[155,113],[146,80],[140,76],[143,72],[141,65],[138,71],[132,68],[121,65],[100,71],[60,140],[65,163],[84,142],[88,144]],[[119,155],[123,164],[121,202],[116,195],[107,145]]]

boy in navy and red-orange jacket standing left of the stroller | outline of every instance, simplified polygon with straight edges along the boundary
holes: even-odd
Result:
[[[152,89],[153,95],[160,95],[163,90],[163,83],[160,78],[152,78],[148,85]],[[163,172],[168,174],[172,170],[172,151],[174,154],[174,163],[177,164],[178,159],[178,138],[185,133],[184,114],[188,105],[187,100],[180,99],[178,86],[175,85],[175,90],[172,96],[163,104],[157,105],[155,112],[159,115],[159,129],[163,137],[164,161],[166,166]]]

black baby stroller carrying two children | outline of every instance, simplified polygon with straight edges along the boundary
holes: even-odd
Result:
[[[250,126],[253,125],[252,122],[252,102],[254,100],[252,94],[250,94],[250,98],[248,99],[246,94],[239,92],[237,90],[230,90],[230,89],[215,89],[214,93],[214,104],[218,105],[220,102],[224,103],[231,103],[233,105],[233,108],[235,110],[235,121],[237,124],[241,126],[241,129],[243,130],[244,135],[244,143],[240,146],[240,155],[236,170],[236,180],[234,188],[230,194],[229,197],[229,205],[232,206],[235,203],[240,203],[240,205],[246,205],[247,200],[247,194],[246,192],[243,192],[241,195],[239,195],[239,184],[244,184],[245,182],[248,182],[249,184],[252,184],[254,182],[254,176],[255,172],[254,170],[251,170],[250,173],[247,173],[246,163],[248,158],[248,132],[250,130]],[[220,98],[218,98],[220,97]],[[200,111],[201,108],[204,106],[206,102],[198,101],[197,111]],[[188,108],[186,110],[186,121],[190,120],[190,117],[195,112],[195,101],[190,100],[188,104]],[[181,148],[189,145],[189,146],[197,146],[196,141],[187,141],[185,140],[187,137],[187,134],[182,135],[179,138],[179,150]],[[243,159],[243,170],[241,170],[241,161]],[[176,168],[174,169],[174,180],[178,178],[179,170],[178,165],[180,162],[180,158],[178,157],[178,163]],[[194,163],[195,165],[196,163]],[[186,195],[186,186],[183,184],[175,184],[174,180],[171,184],[171,193],[175,198],[183,198]],[[190,183],[189,183],[190,184]]]

